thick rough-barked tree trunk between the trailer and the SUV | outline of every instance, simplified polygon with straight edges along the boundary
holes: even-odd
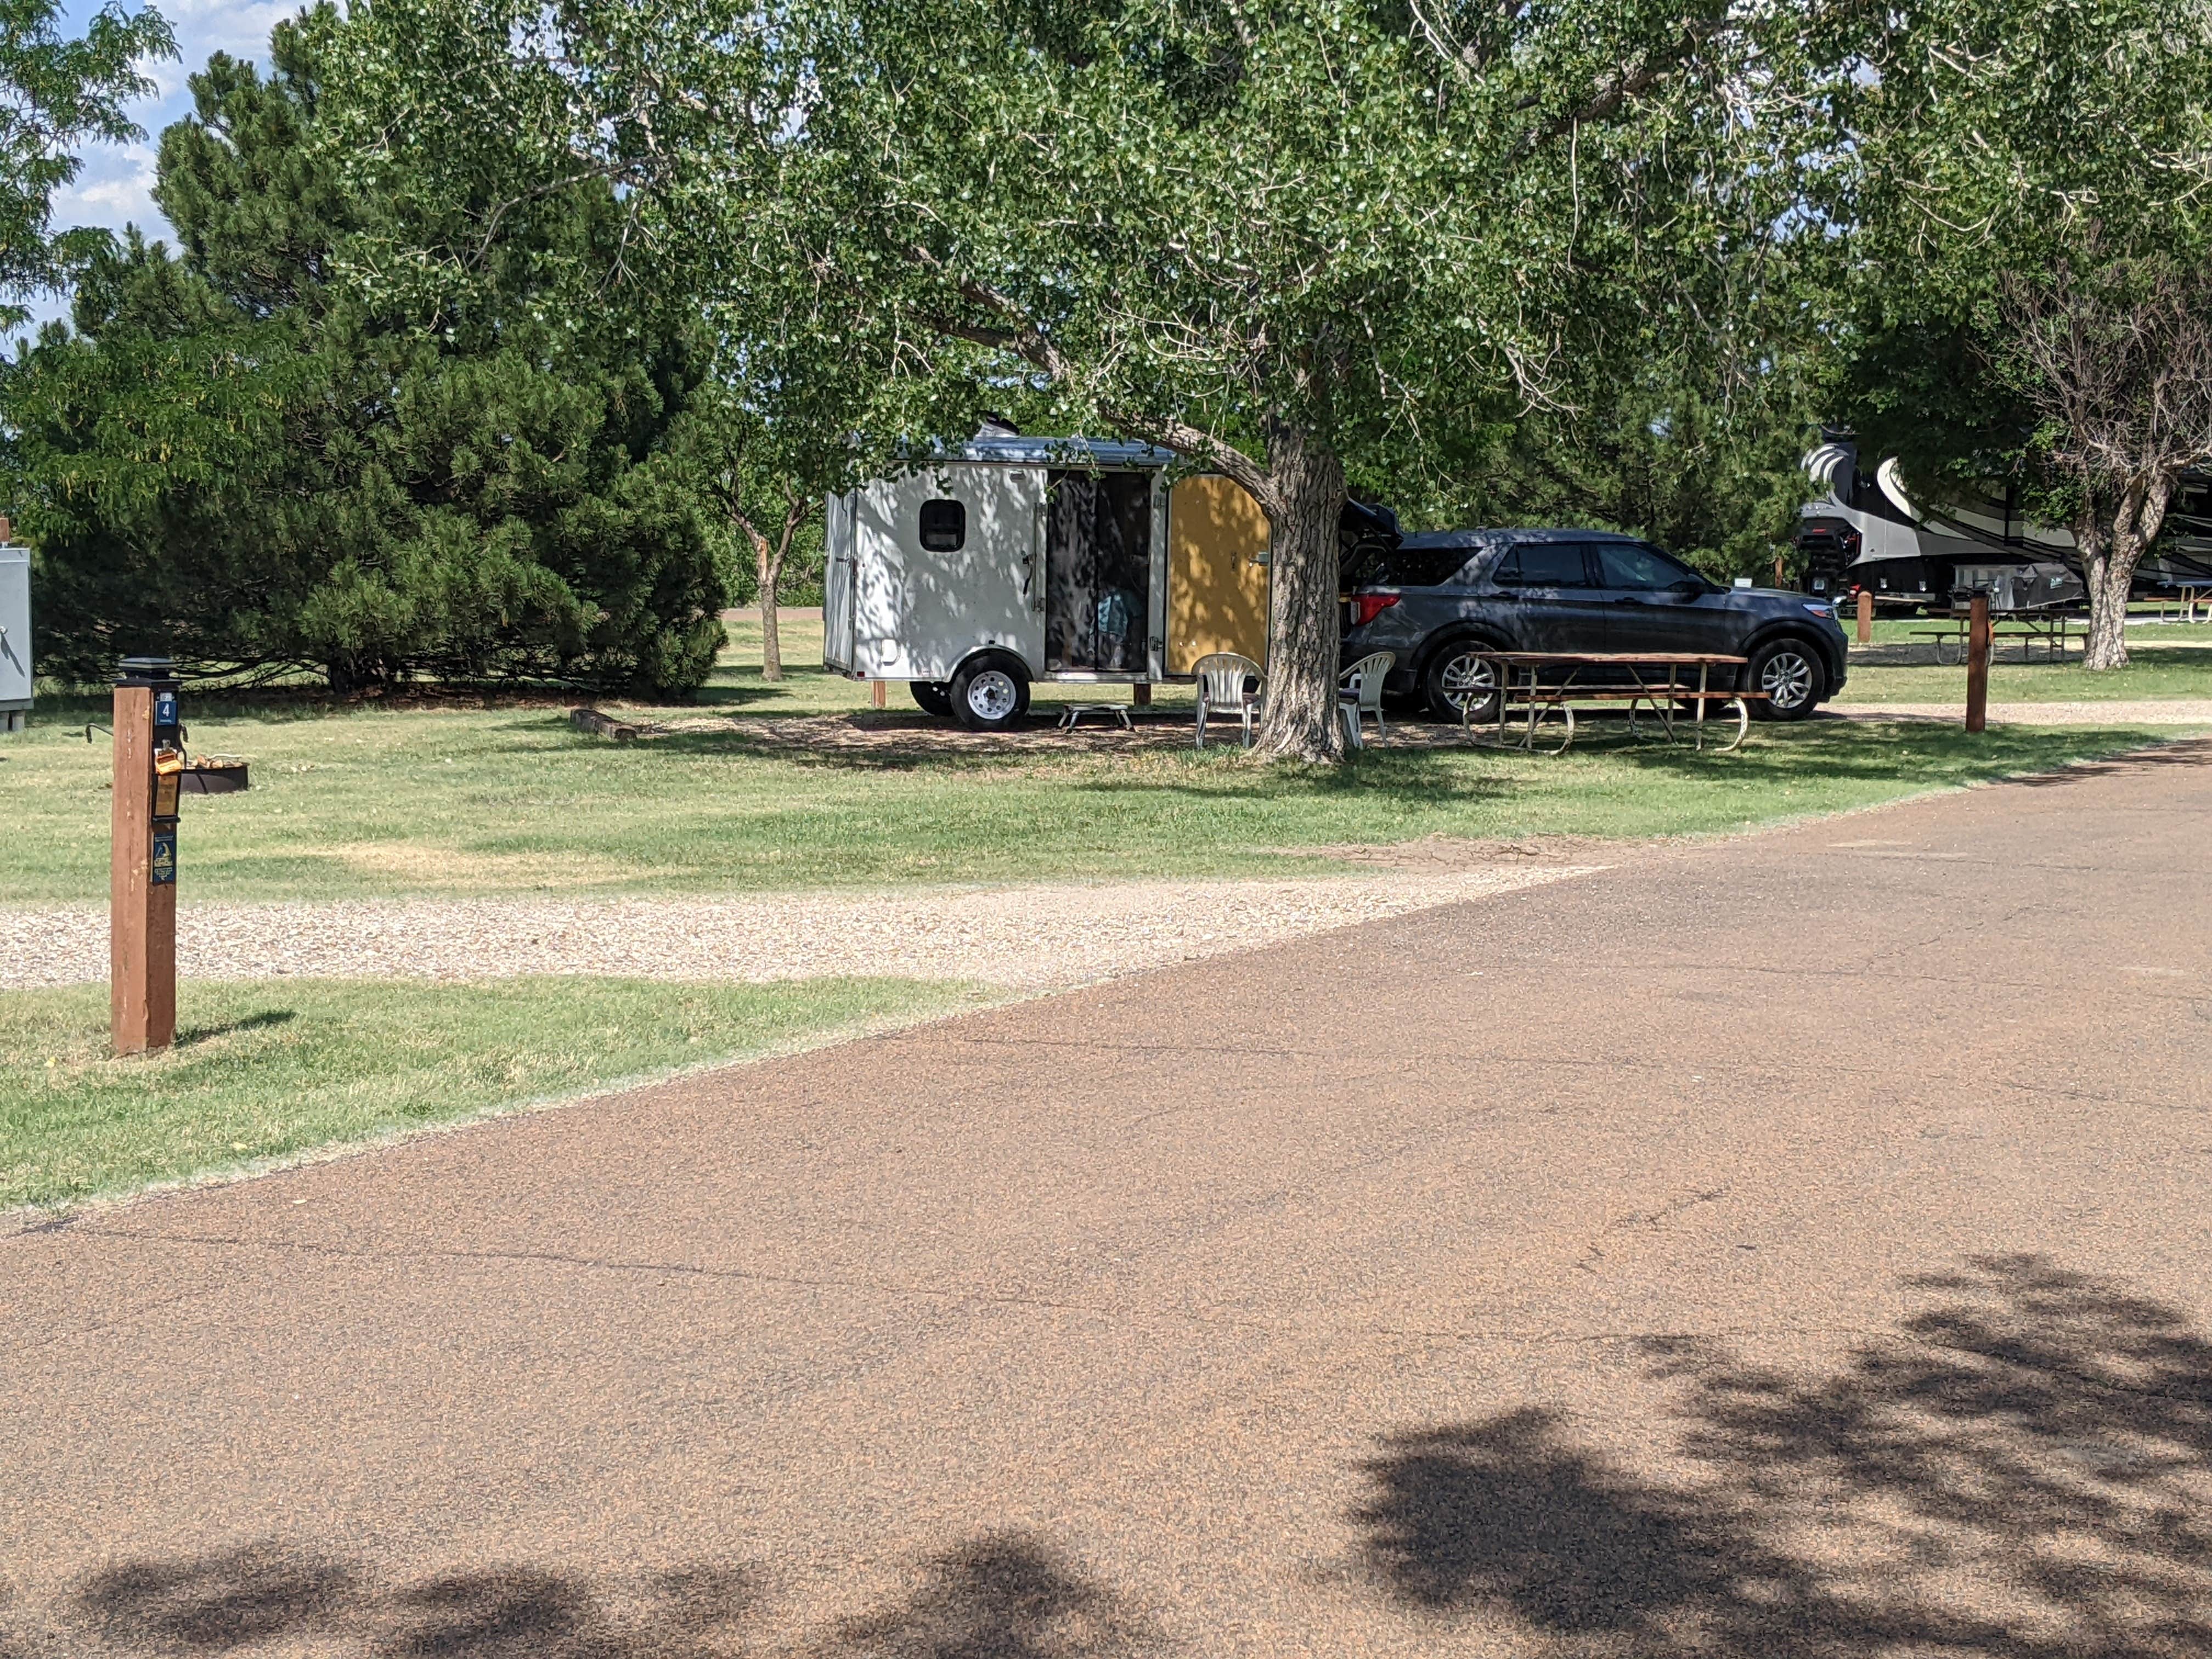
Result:
[[[1298,427],[1267,434],[1270,522],[1267,710],[1259,752],[1285,761],[1340,761],[1336,712],[1336,524],[1345,511],[1345,465]]]

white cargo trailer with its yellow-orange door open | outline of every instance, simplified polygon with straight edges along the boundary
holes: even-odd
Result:
[[[830,502],[823,664],[978,730],[1040,679],[1148,686],[1263,659],[1267,522],[1166,449],[987,431]],[[1188,504],[1190,511],[1183,511]]]

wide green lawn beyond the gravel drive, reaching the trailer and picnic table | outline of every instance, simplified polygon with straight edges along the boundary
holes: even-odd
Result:
[[[1920,790],[2110,754],[2112,730],[1940,728],[1818,721],[1756,726],[1736,754],[1590,743],[1564,759],[1469,750],[1369,750],[1332,770],[1267,768],[1234,750],[1141,754],[807,750],[759,741],[759,717],[867,706],[867,688],[810,668],[818,626],[792,626],[783,686],[763,686],[741,626],[699,706],[706,719],[644,743],[573,732],[557,699],[509,706],[352,706],[321,699],[188,699],[192,748],[239,752],[254,787],[190,799],[179,843],[186,902],[491,891],[748,891],[832,885],[1037,880],[1141,874],[1314,872],[1287,849],[1447,836],[1648,836],[1743,830]],[[2150,653],[2146,653],[2150,655]],[[2179,653],[2177,653],[2179,655]],[[2194,653],[2192,653],[2194,655]],[[2212,653],[2148,664],[2141,695],[2212,695]],[[2079,668],[2000,670],[2081,681]],[[1854,668],[1854,701],[1940,701],[1924,677]],[[2143,677],[2143,679],[2137,679]],[[1086,695],[1053,688],[1060,695]],[[1188,697],[1188,692],[1183,692]],[[905,690],[894,690],[894,706]],[[108,869],[108,743],[84,743],[100,703],[42,706],[0,739],[0,902],[97,902]],[[75,717],[75,730],[64,717]],[[2172,730],[2154,732],[2172,737]]]

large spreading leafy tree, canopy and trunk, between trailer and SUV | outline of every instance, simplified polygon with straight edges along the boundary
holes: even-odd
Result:
[[[1557,400],[1571,307],[1663,305],[1717,223],[1772,223],[1812,108],[1785,20],[1712,0],[356,15],[363,166],[436,150],[456,188],[520,197],[529,166],[482,177],[538,135],[535,177],[619,179],[708,290],[805,281],[830,349],[1237,478],[1274,540],[1261,745],[1296,759],[1343,752],[1347,478]]]

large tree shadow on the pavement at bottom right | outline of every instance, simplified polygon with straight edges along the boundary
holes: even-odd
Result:
[[[1825,1378],[1650,1345],[1692,1478],[1542,1409],[1391,1436],[1371,1582],[1575,1655],[2212,1652],[2212,1343],[2044,1259],[1916,1287],[1942,1301]]]

